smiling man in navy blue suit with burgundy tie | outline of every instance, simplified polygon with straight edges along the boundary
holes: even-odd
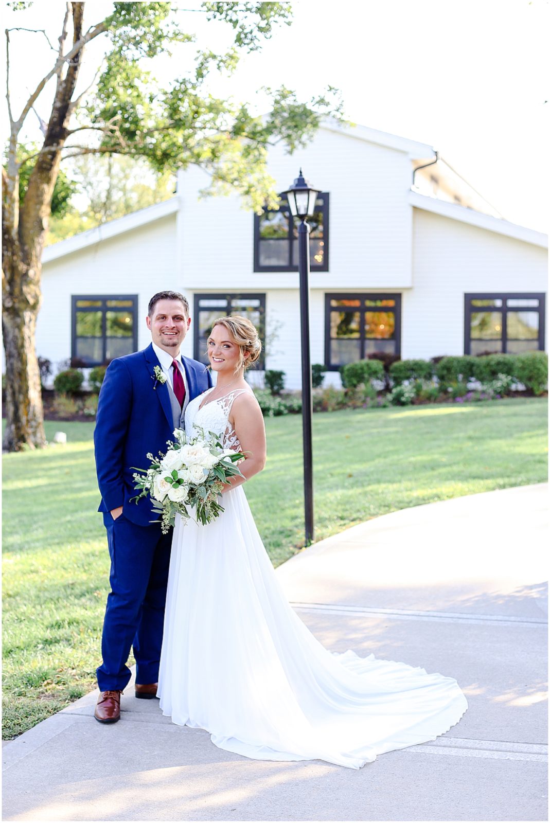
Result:
[[[136,658],[136,697],[156,696],[171,533],[163,535],[151,500],[137,494],[133,472],[148,466],[147,453],[166,451],[185,407],[212,385],[210,372],[179,354],[189,331],[189,303],[177,291],[151,297],[144,351],[113,360],[97,407],[94,444],[97,481],[111,560],[101,653],[97,669],[100,723],[120,718],[120,695],[130,679],[130,648]]]

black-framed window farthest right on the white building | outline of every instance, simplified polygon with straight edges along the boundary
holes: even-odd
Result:
[[[544,298],[526,291],[464,295],[464,354],[543,351]]]

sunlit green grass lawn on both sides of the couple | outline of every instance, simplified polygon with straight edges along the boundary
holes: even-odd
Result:
[[[433,500],[546,480],[545,398],[314,416],[316,537]],[[301,417],[266,421],[246,492],[274,565],[303,545]],[[109,558],[93,423],[47,423],[66,446],[4,456],[3,737],[94,686]]]

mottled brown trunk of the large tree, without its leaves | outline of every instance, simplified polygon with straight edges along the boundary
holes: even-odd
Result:
[[[70,11],[74,46],[82,37],[84,3],[72,2]],[[59,38],[60,54],[67,36],[65,23]],[[97,32],[101,30],[105,28],[98,26]],[[43,151],[30,173],[26,195],[19,208],[16,145],[21,119],[16,123],[12,122],[7,171],[2,169],[2,337],[6,353],[7,418],[3,445],[8,451],[35,449],[44,446],[46,442],[40,370],[35,348],[36,318],[42,302],[41,259],[61,149],[68,137],[71,99],[77,83],[82,51],[83,46],[68,62],[65,77],[59,67]]]

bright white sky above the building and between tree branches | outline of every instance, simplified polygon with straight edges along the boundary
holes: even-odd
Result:
[[[26,12],[4,11],[3,27],[44,27],[55,44],[64,7],[63,0],[38,0]],[[111,7],[88,0],[86,26]],[[506,219],[548,231],[548,0],[295,0],[292,7],[292,26],[242,58],[231,80],[213,80],[213,92],[261,112],[260,86],[284,84],[304,99],[337,86],[353,122],[434,146]],[[199,45],[229,42],[225,27],[207,24],[202,14],[178,15]],[[54,53],[43,35],[19,31],[11,38],[17,115],[26,88],[35,87]],[[105,41],[91,44],[82,87]],[[192,50],[179,47],[156,63],[159,81],[168,84],[182,72]],[[37,105],[44,119],[52,91],[53,81]],[[28,126],[26,136],[38,139],[32,113]]]

